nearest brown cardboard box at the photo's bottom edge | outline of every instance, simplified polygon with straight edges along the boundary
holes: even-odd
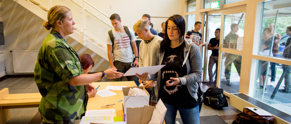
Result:
[[[148,124],[152,118],[155,106],[127,108],[127,124]]]

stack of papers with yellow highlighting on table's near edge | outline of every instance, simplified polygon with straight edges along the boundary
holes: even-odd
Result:
[[[115,116],[115,109],[88,110],[86,115],[82,117],[80,124],[113,123]]]

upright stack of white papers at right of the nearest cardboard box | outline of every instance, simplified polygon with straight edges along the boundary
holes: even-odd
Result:
[[[150,123],[163,123],[166,111],[167,108],[160,99],[156,105],[156,108],[154,109],[154,112],[152,113],[152,119],[150,120]]]

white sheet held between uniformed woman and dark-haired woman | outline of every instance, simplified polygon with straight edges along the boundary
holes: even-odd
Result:
[[[136,67],[136,68],[129,68],[127,72],[123,76],[131,76],[135,74],[142,75],[145,72],[148,74],[155,74],[165,65],[156,65],[156,66],[148,66],[148,67]],[[98,91],[99,92],[99,91]]]

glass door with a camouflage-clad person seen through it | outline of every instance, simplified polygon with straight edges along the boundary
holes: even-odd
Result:
[[[221,20],[218,86],[227,93],[238,93],[245,11],[222,13]]]

